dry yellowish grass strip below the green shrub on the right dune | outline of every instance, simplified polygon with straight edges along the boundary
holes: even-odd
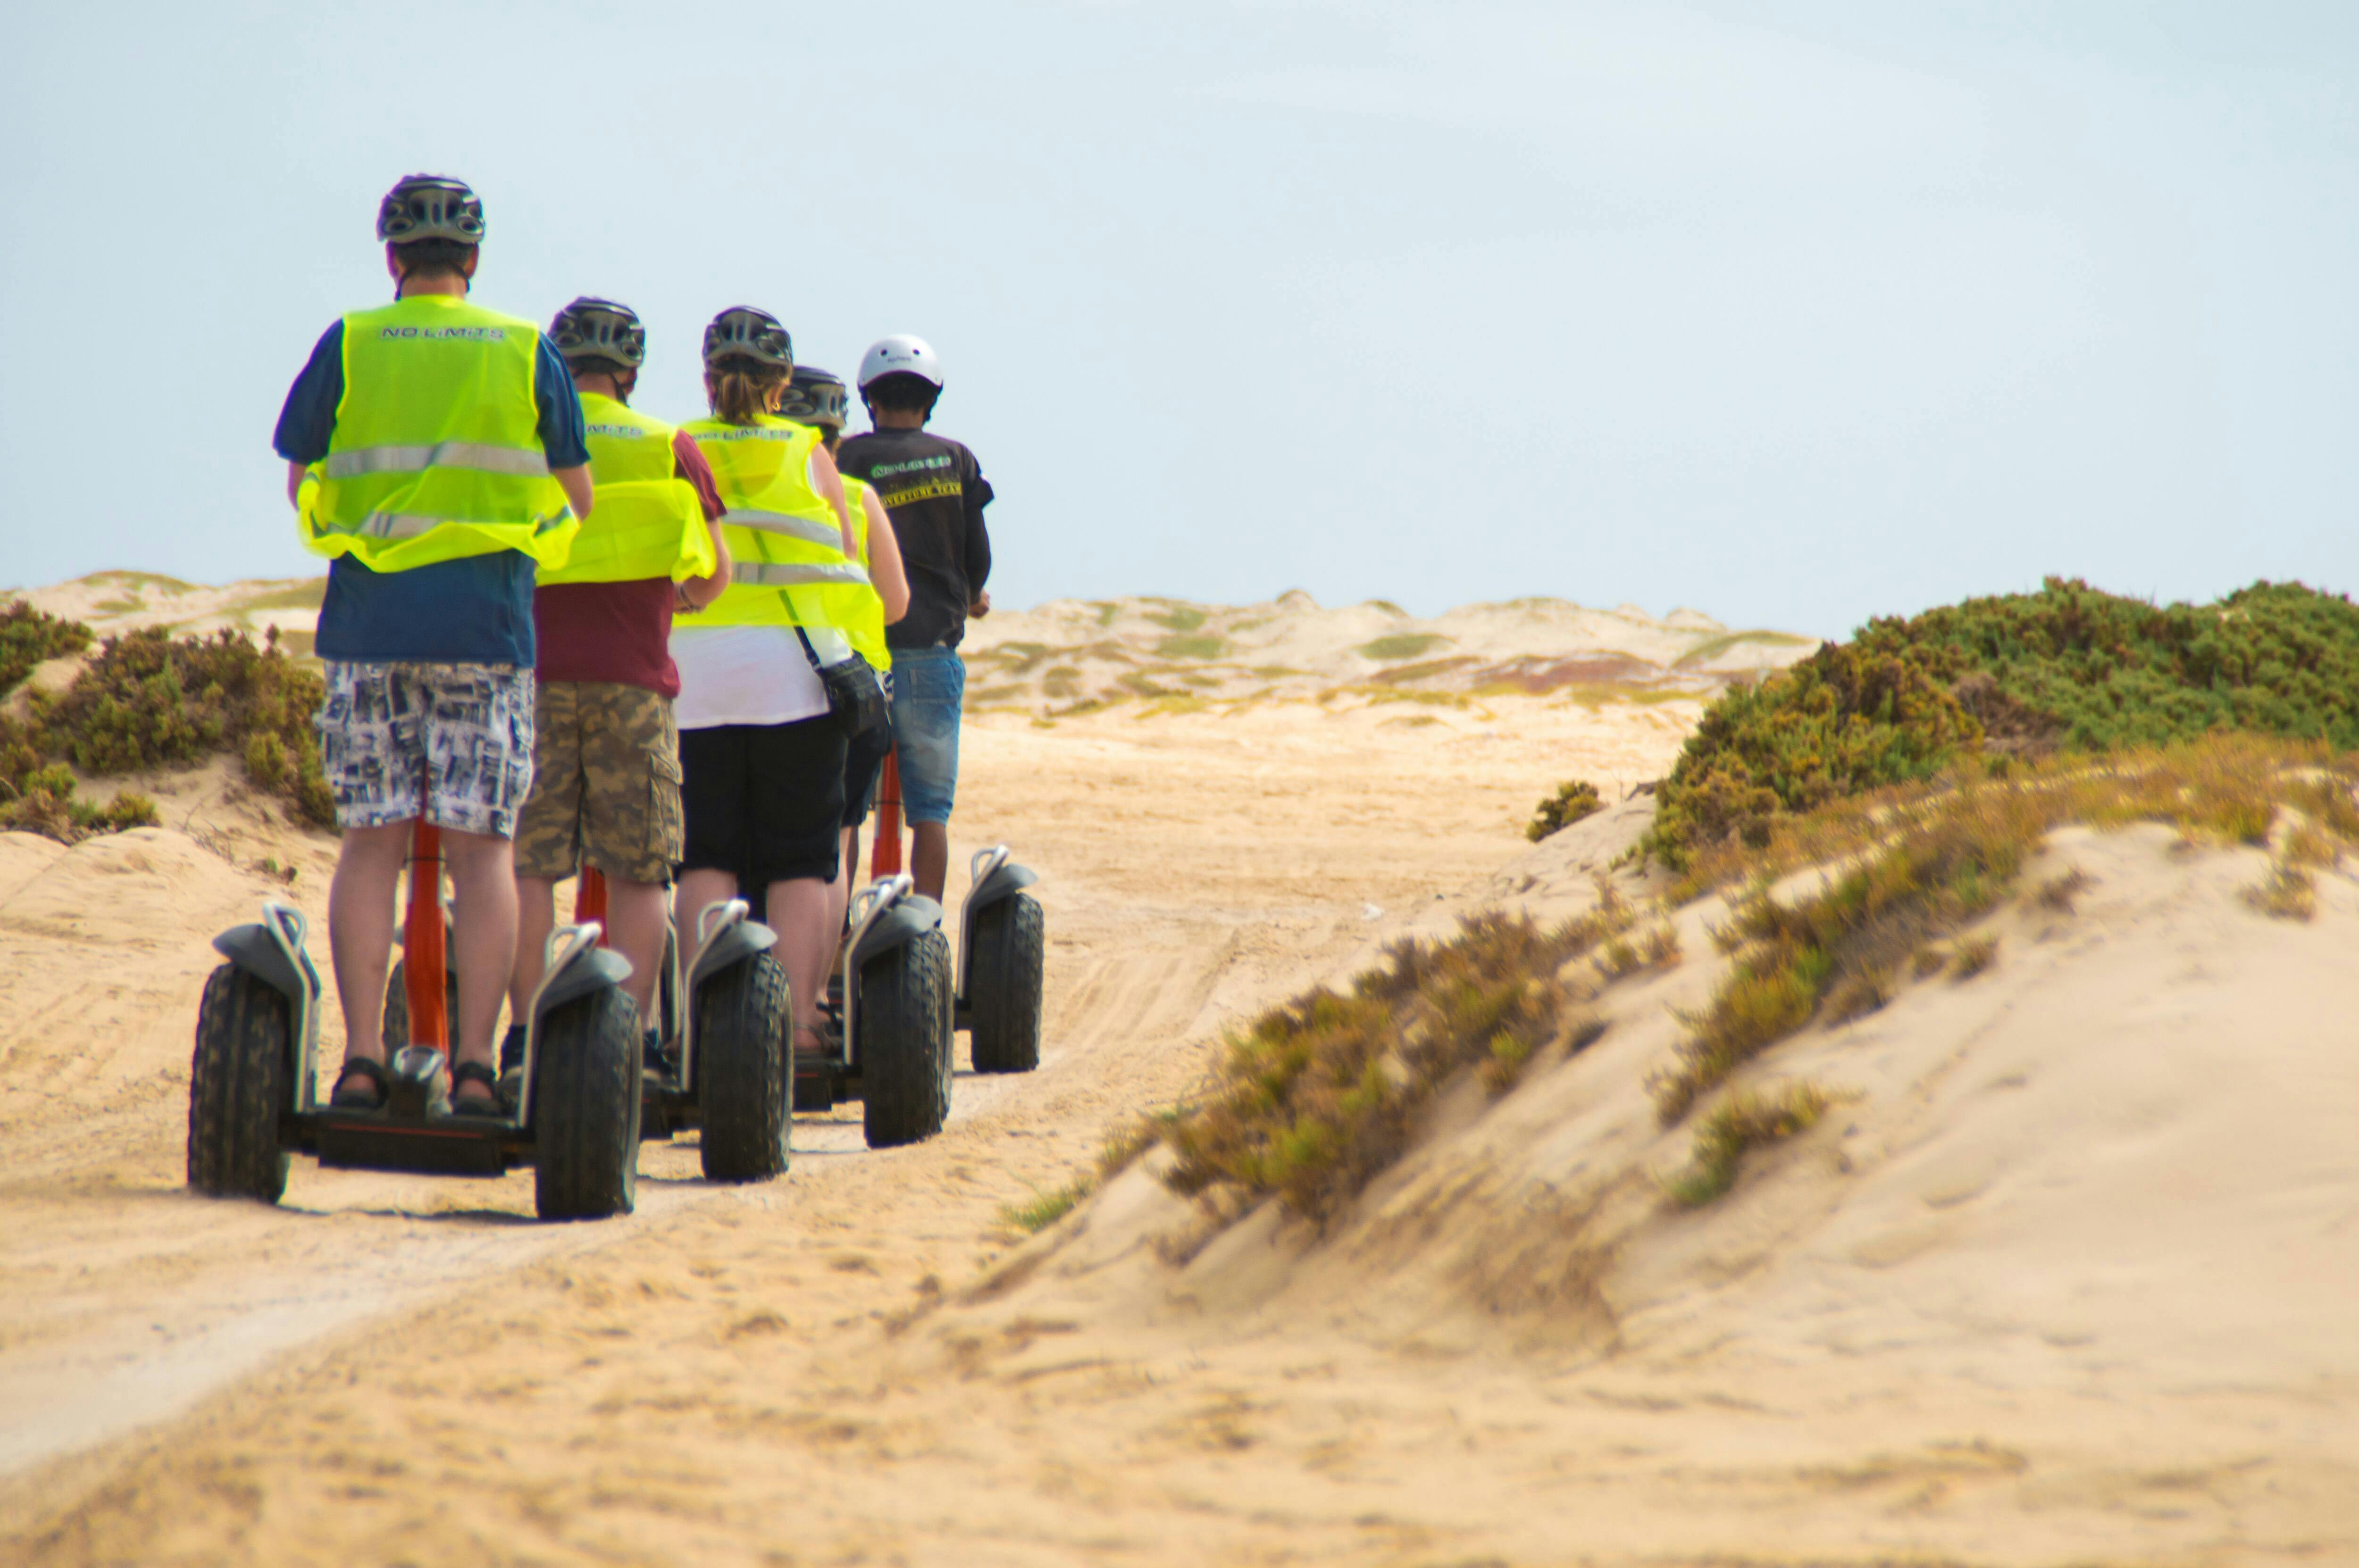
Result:
[[[1682,891],[1727,884],[1750,891],[1715,931],[1736,964],[1710,1007],[1687,1016],[1689,1037],[1654,1080],[1656,1111],[1665,1125],[1680,1120],[1741,1063],[1821,1012],[1842,1021],[1882,1007],[1904,962],[1927,976],[1934,964],[1918,955],[1998,903],[2062,823],[2170,823],[2189,842],[2262,844],[2291,806],[2314,832],[2345,839],[2359,835],[2354,778],[2352,759],[2253,736],[2033,766],[1974,764],[1932,785],[1788,818],[1760,849],[1698,856]],[[1840,870],[1816,896],[1772,898],[1772,877],[1802,865]],[[2081,887],[2066,875],[2043,898],[2069,908]],[[2307,872],[2281,865],[2255,889],[2255,903],[2305,917],[2307,894]],[[1991,938],[1958,941],[1951,971],[1982,974],[1996,953]]]

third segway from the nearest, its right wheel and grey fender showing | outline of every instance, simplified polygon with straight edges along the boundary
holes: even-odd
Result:
[[[951,938],[913,887],[901,872],[852,896],[826,1047],[795,1052],[795,1108],[861,1101],[870,1148],[929,1139],[951,1115]]]

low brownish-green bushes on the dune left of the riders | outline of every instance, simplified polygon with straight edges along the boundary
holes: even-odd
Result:
[[[21,601],[14,608],[24,608]],[[0,627],[35,630],[9,639],[7,658],[17,658],[19,646],[80,651],[90,644],[90,627],[50,622],[40,630],[14,608]],[[311,733],[321,693],[318,674],[278,648],[276,630],[259,646],[243,632],[175,639],[149,627],[109,637],[61,696],[31,693],[21,724],[0,717],[0,828],[73,842],[151,825],[156,806],[144,795],[97,806],[75,797],[64,764],[104,776],[193,766],[215,752],[236,755],[248,780],[283,797],[300,821],[328,825],[335,802]]]

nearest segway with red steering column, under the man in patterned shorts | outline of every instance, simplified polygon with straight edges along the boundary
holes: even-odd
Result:
[[[498,1177],[533,1167],[543,1219],[627,1214],[637,1198],[639,1014],[623,955],[599,927],[550,934],[533,990],[517,1103],[453,1111],[446,1085],[441,835],[410,839],[403,927],[408,1040],[387,1061],[385,1106],[318,1101],[321,981],[302,910],[264,903],[257,924],[212,938],[229,962],[205,981],[189,1080],[189,1186],[212,1198],[278,1203],[295,1153],[323,1167]]]

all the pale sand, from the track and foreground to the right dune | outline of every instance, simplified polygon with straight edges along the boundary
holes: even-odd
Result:
[[[915,1148],[797,1118],[760,1188],[649,1146],[597,1226],[531,1224],[521,1174],[189,1198],[205,941],[264,856],[316,913],[328,844],[222,773],[165,828],[0,837],[0,1561],[2359,1561],[2359,887],[2272,922],[2260,851],[2066,830],[2036,877],[2085,870],[2074,913],[2008,905],[1979,979],[1755,1066],[1845,1101],[1703,1212],[1644,1078],[1715,903],[1326,1236],[1210,1233],[1154,1155],[1014,1233],[1224,1023],[1463,910],[1583,908],[1647,797],[1538,846],[1531,802],[1658,776],[1698,712],[1328,674],[981,714],[958,849],[1043,872],[1043,1068],[962,1073]]]

